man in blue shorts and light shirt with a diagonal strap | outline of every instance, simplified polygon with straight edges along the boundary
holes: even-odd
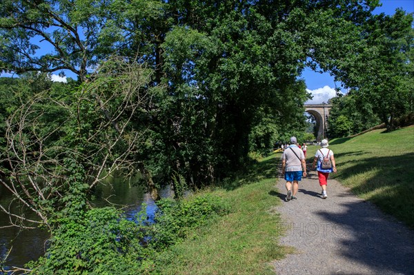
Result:
[[[296,143],[295,136],[292,136],[289,147],[282,154],[282,175],[286,180],[286,190],[288,192],[286,201],[296,199],[299,181],[302,181],[302,174],[306,176],[304,152],[297,147]]]

